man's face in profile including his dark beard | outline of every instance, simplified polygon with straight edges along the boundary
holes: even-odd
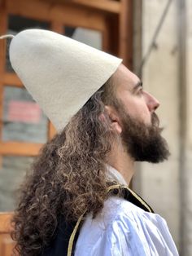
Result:
[[[115,79],[116,111],[124,147],[135,161],[164,161],[169,151],[155,114],[159,102],[142,89],[137,76],[124,65],[117,70]]]

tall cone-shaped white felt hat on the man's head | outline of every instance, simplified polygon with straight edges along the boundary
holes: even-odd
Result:
[[[41,29],[18,33],[11,41],[10,59],[20,80],[56,130],[66,126],[122,61]]]

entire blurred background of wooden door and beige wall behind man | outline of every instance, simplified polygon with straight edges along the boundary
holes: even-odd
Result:
[[[168,222],[180,255],[192,255],[192,1],[0,0],[0,35],[50,29],[124,59],[160,102],[171,157],[137,164],[132,188]],[[16,189],[55,128],[11,68],[0,40],[0,255],[11,255]]]

